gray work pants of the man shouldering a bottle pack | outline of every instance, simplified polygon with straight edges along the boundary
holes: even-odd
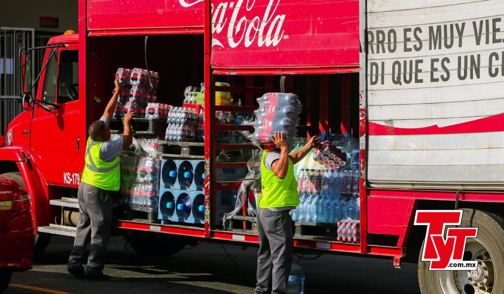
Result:
[[[294,239],[292,217],[289,210],[273,212],[266,208],[257,210],[259,253],[257,255],[256,294],[287,293],[287,281],[292,265]]]

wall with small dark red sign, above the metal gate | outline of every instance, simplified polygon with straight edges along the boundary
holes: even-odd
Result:
[[[40,17],[57,17],[57,29],[41,28]],[[78,29],[78,0],[0,0],[0,26],[60,32]]]

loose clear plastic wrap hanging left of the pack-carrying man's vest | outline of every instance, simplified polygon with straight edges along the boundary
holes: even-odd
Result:
[[[248,168],[248,174],[246,175],[245,179],[240,185],[240,188],[238,188],[238,192],[236,195],[236,205],[234,207],[234,210],[224,214],[224,217],[222,218],[222,223],[224,224],[224,228],[226,228],[226,221],[228,221],[233,215],[240,214],[243,209],[243,204],[245,202],[248,202],[247,204],[250,206],[255,205],[255,209],[247,209],[247,214],[248,215],[253,215],[257,211],[257,198],[255,199],[250,199],[249,198],[249,193],[253,192],[254,196],[261,194],[261,157],[263,154],[262,150],[251,150],[252,156],[248,160],[247,168]],[[250,191],[250,188],[254,187],[252,191]],[[254,203],[255,202],[255,203]]]

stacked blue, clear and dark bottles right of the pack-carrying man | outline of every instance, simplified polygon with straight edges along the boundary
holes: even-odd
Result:
[[[292,211],[294,221],[337,223],[360,218],[358,171],[302,169],[297,189],[300,204]]]

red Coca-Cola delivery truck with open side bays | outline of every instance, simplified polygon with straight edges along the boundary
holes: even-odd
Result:
[[[226,138],[254,131],[229,118],[285,88],[303,105],[300,137],[346,134],[356,147],[349,156],[359,156],[342,165],[333,195],[339,207],[357,200],[357,215],[295,221],[296,250],[418,262],[425,293],[503,292],[504,36],[495,13],[503,8],[491,2],[495,9],[484,1],[80,0],[79,33],[43,48],[37,97],[34,81],[22,79],[27,111],[9,126],[0,171],[19,172],[32,196],[41,252],[50,234],[75,233],[86,126],[99,119],[117,69],[159,73],[156,102],[173,107],[186,86],[203,82],[200,94],[188,91],[204,97],[204,142],[163,140],[164,121],[134,119],[137,139],[163,135],[156,208],[126,203],[136,196],[121,188],[113,226],[144,254],[154,242],[164,254],[195,241],[258,243],[246,205],[222,222],[244,183],[239,170],[260,152]],[[22,52],[27,70],[31,51]],[[120,117],[114,123],[120,133]],[[138,173],[134,158],[124,156],[122,177]],[[306,164],[299,169],[324,169]],[[170,184],[170,174],[183,183]],[[193,191],[183,174],[204,183]],[[345,221],[350,240],[341,238]]]

